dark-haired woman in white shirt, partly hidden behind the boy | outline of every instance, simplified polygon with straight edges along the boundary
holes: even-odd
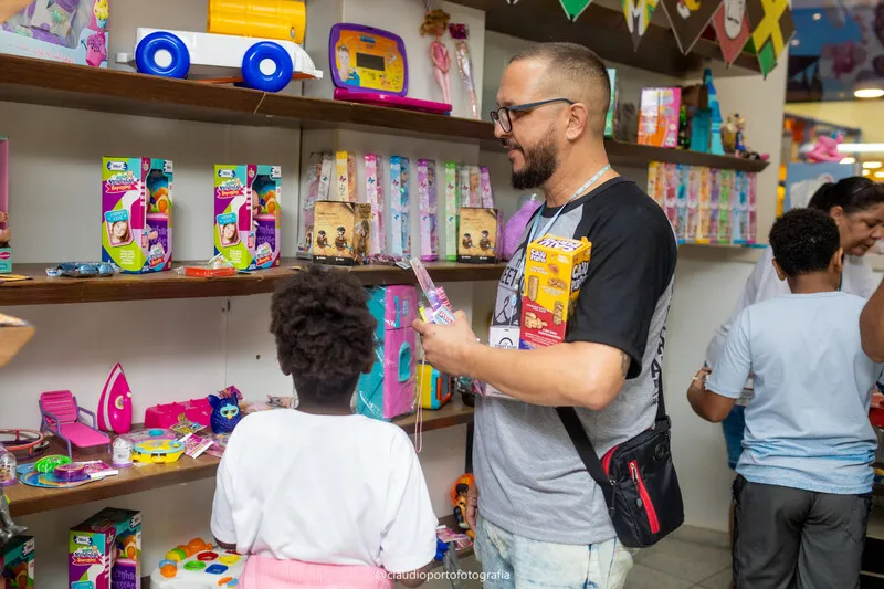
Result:
[[[829,213],[838,224],[841,248],[844,250],[841,291],[864,298],[872,296],[880,281],[874,276],[863,256],[877,240],[884,239],[884,186],[861,176],[844,178],[834,183],[828,182],[817,190],[810,199],[808,208]],[[706,348],[704,370],[714,369],[730,325],[744,308],[767,298],[790,293],[786,281],[780,281],[777,276],[772,261],[774,252],[767,248],[747,278],[746,286],[743,288],[730,317],[715,330],[715,335]],[[727,419],[722,422],[730,470],[736,469],[743,452],[743,434],[746,425],[744,410],[751,400],[751,395],[753,382],[749,380],[746,382],[743,397],[736,402]]]

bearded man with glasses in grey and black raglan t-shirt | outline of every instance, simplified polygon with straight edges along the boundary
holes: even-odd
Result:
[[[495,135],[513,187],[540,188],[546,203],[501,278],[490,345],[463,313],[452,325],[414,325],[435,368],[512,398],[476,402],[467,520],[486,588],[620,589],[632,567],[555,409],[576,407],[602,456],[652,427],[662,395],[675,239],[660,207],[608,164],[610,94],[604,65],[581,45],[540,44],[511,61],[491,115]],[[525,245],[546,234],[587,238],[589,269],[565,343],[512,349]]]

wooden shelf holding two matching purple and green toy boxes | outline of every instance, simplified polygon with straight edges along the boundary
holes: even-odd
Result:
[[[117,274],[104,278],[50,278],[45,269],[52,264],[18,264],[13,266],[13,272],[33,276],[33,280],[0,284],[0,306],[264,294],[272,293],[280,282],[293,276],[293,267],[307,263],[303,260],[284,259],[280,267],[224,278],[182,276],[175,270],[141,275]],[[185,264],[186,262],[181,262],[176,266]],[[456,262],[429,262],[425,266],[436,283],[497,281],[506,267],[505,264]],[[417,283],[413,272],[397,266],[369,265],[344,270],[352,272],[367,286]]]

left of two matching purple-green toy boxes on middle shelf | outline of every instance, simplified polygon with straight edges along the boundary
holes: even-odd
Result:
[[[126,274],[172,267],[172,162],[102,159],[102,261]]]

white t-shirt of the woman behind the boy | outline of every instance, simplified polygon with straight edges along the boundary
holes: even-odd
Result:
[[[875,292],[880,282],[865,259],[855,255],[844,256],[844,270],[841,272],[841,292],[869,298]],[[709,345],[706,347],[706,364],[712,368],[715,367],[730,326],[734,324],[734,319],[743,313],[743,309],[761,301],[788,294],[791,294],[789,283],[781,281],[777,276],[777,271],[774,267],[774,250],[768,246],[765,250],[765,254],[755,264],[753,273],[746,280],[746,286],[743,288],[730,317],[715,330]],[[743,396],[737,400],[737,404],[747,404],[751,400],[751,389],[753,381],[750,378],[746,382]]]

